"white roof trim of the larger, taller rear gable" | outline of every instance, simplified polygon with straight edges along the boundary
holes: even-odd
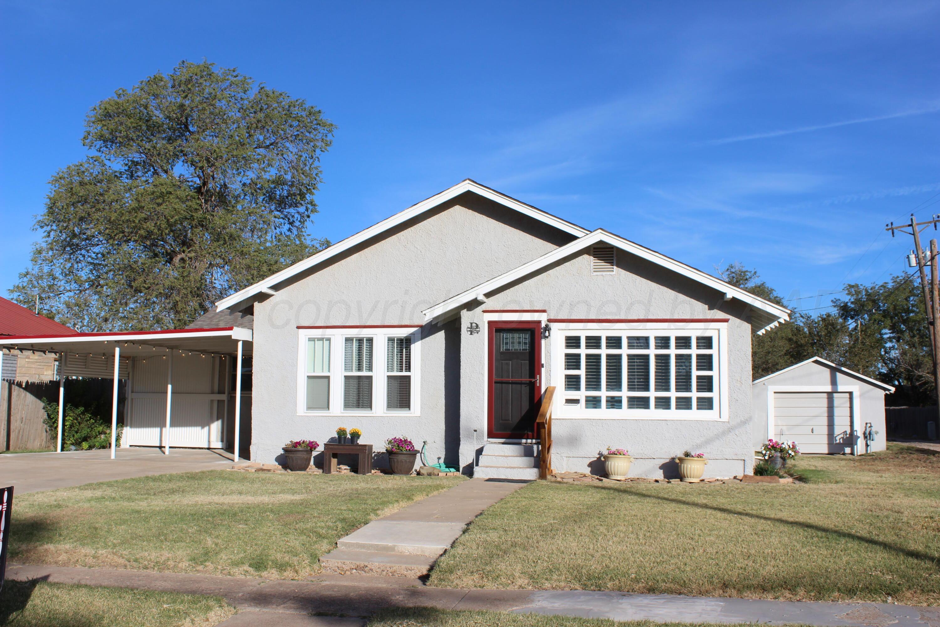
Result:
[[[289,279],[291,276],[295,274],[302,273],[305,270],[308,270],[316,266],[317,264],[322,263],[326,259],[335,257],[339,253],[342,253],[343,251],[348,250],[349,248],[352,248],[352,246],[358,243],[366,242],[368,239],[373,238],[376,235],[383,233],[389,228],[397,227],[402,222],[410,220],[414,218],[416,215],[420,215],[421,213],[427,212],[433,209],[434,207],[437,207],[438,205],[445,203],[446,201],[452,198],[460,196],[461,194],[465,192],[473,192],[474,194],[477,194],[478,196],[489,198],[490,200],[493,200],[493,202],[497,202],[503,205],[504,207],[508,207],[511,210],[514,210],[516,212],[523,213],[529,217],[535,218],[536,220],[539,220],[540,222],[544,222],[547,225],[551,225],[552,227],[559,228],[567,233],[572,234],[574,237],[581,237],[582,235],[585,235],[588,232],[586,228],[578,227],[577,225],[574,225],[571,222],[568,222],[567,220],[562,220],[561,218],[556,217],[555,215],[552,215],[551,213],[543,212],[540,209],[536,209],[535,207],[531,205],[526,205],[525,202],[521,202],[519,200],[516,200],[515,198],[506,196],[505,194],[500,194],[499,192],[493,189],[490,189],[489,187],[486,187],[485,185],[480,185],[475,180],[464,179],[461,182],[454,185],[453,187],[448,187],[446,190],[444,190],[440,194],[435,194],[434,196],[431,196],[430,198],[426,200],[422,200],[416,205],[412,205],[408,209],[402,212],[398,212],[395,215],[391,216],[390,218],[384,219],[382,222],[380,222],[377,225],[373,225],[371,227],[368,227],[365,230],[361,230],[355,235],[352,235],[346,238],[345,240],[341,240],[340,242],[337,242],[333,244],[332,246],[324,248],[316,255],[308,257],[304,259],[303,261],[298,261],[292,266],[285,268],[284,270],[278,273],[272,274],[271,276],[267,277],[263,281],[259,281],[255,285],[247,287],[244,290],[237,291],[234,294],[231,294],[230,296],[223,298],[221,301],[216,303],[215,306],[218,309],[225,309],[233,305],[238,305],[239,303],[242,303],[243,301],[246,301],[249,298],[252,298],[258,293],[273,294],[274,286],[280,283],[281,281]]]

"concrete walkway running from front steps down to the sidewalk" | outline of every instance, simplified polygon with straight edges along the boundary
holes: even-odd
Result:
[[[474,478],[384,516],[337,541],[326,572],[420,577],[484,509],[528,481]]]

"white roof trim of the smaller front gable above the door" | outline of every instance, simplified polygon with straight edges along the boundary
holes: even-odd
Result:
[[[467,303],[477,299],[478,295],[486,296],[486,294],[499,290],[505,285],[508,285],[512,281],[518,280],[529,274],[534,274],[539,272],[542,268],[555,263],[560,259],[565,259],[566,257],[578,253],[586,249],[588,246],[592,246],[596,243],[608,243],[612,246],[618,247],[620,250],[626,251],[635,255],[641,259],[646,259],[655,263],[657,265],[663,266],[673,272],[682,274],[691,278],[698,283],[706,285],[713,290],[718,290],[724,294],[726,301],[731,299],[737,299],[743,301],[749,306],[754,308],[752,312],[752,321],[756,322],[756,326],[759,329],[758,334],[762,334],[768,329],[774,328],[776,325],[781,322],[790,320],[790,310],[786,307],[776,305],[770,301],[765,301],[762,298],[755,296],[754,294],[742,290],[741,288],[736,288],[725,281],[722,281],[719,278],[714,277],[711,274],[704,273],[692,266],[687,266],[684,263],[677,261],[676,259],[671,259],[666,257],[661,253],[657,253],[654,250],[650,250],[645,246],[641,246],[638,243],[630,242],[625,240],[619,235],[614,235],[608,231],[603,230],[603,228],[598,228],[597,230],[591,231],[589,234],[578,238],[572,243],[567,243],[564,246],[559,246],[555,250],[542,255],[538,259],[533,259],[528,263],[510,270],[506,274],[500,274],[489,281],[478,285],[476,288],[466,290],[456,296],[451,296],[446,301],[438,303],[435,306],[431,306],[428,309],[425,309],[422,313],[424,314],[425,320],[435,320],[443,319],[448,316],[455,309],[458,309]]]

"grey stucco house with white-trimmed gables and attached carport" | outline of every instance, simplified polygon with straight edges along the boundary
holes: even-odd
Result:
[[[187,350],[184,340],[224,368],[243,344],[252,355],[239,368],[253,379],[251,459],[261,462],[279,459],[290,439],[323,442],[338,427],[358,427],[377,450],[403,435],[418,447],[427,441],[431,462],[533,477],[535,418],[555,386],[557,470],[594,468],[609,445],[630,449],[635,475],[674,473],[671,458],[688,448],[709,457],[710,474],[730,476],[753,462],[751,334],[790,313],[472,180],[216,306],[200,328],[15,341],[69,353],[106,353],[107,341],[117,342],[131,360],[133,390],[144,371],[148,389],[177,381],[163,357]],[[213,399],[230,404],[223,366],[201,361],[187,380],[202,372],[224,395]],[[148,394],[150,413],[160,415],[165,399]],[[189,412],[187,428],[218,424],[218,408],[204,402],[212,399],[193,394],[202,409]],[[157,417],[145,427],[138,411],[129,431],[164,442]],[[177,445],[174,429],[171,446],[194,446]],[[223,443],[231,439],[228,425]]]

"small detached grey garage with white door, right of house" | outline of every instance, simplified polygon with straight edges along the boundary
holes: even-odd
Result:
[[[890,385],[812,357],[758,379],[751,390],[756,449],[768,438],[793,440],[804,453],[885,449]]]

